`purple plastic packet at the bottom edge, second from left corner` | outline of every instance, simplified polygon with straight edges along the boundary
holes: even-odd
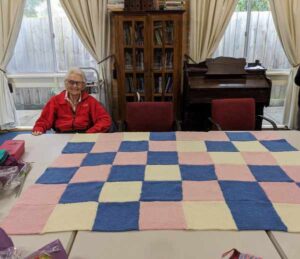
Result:
[[[38,251],[27,256],[25,259],[40,258],[40,256],[42,256],[42,255],[51,256],[51,259],[68,259],[68,255],[67,255],[63,245],[59,241],[59,239],[51,242],[48,245],[45,245]]]

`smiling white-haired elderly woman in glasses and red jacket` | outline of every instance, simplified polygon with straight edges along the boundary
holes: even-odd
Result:
[[[85,74],[72,68],[65,77],[65,88],[53,96],[36,121],[32,134],[37,136],[53,128],[56,132],[107,132],[111,118],[104,107],[84,91]]]

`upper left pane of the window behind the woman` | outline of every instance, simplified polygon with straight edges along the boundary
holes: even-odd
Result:
[[[54,72],[49,13],[46,0],[28,0],[14,54],[7,71]]]

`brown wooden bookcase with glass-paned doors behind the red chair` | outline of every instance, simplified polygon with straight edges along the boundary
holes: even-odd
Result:
[[[177,117],[182,74],[183,10],[115,11],[114,53],[118,64],[118,104],[172,101]]]

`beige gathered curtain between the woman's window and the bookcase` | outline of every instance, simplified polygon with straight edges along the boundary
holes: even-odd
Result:
[[[110,53],[107,0],[60,0],[60,2],[83,45],[99,63]],[[102,74],[103,67],[99,66],[98,71]],[[107,70],[105,73],[108,78]],[[103,92],[100,100],[106,106],[108,106],[106,102],[109,102],[105,98],[107,95],[107,92]]]

